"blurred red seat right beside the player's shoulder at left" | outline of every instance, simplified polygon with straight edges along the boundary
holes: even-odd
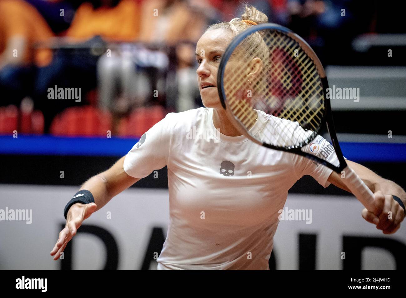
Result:
[[[121,120],[118,129],[119,135],[139,137],[162,120],[165,115],[164,108],[158,105],[138,108],[129,117]]]

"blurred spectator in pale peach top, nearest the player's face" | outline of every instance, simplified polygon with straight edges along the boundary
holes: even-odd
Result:
[[[176,65],[168,75],[168,108],[185,111],[201,105],[195,45],[217,16],[205,0],[143,2],[140,41],[164,43],[174,50]]]

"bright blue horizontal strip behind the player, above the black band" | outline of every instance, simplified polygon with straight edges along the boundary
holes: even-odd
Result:
[[[0,154],[123,156],[138,138],[0,136]],[[406,162],[406,144],[340,142],[346,158],[356,162]]]

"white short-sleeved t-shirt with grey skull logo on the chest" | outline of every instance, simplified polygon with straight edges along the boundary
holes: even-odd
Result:
[[[125,157],[125,172],[136,178],[168,167],[170,222],[158,270],[269,270],[288,190],[306,174],[327,187],[332,170],[244,135],[223,135],[212,114],[211,108],[170,113]],[[258,111],[253,134],[266,117]],[[318,135],[302,150],[324,152],[324,159],[338,165],[331,148]]]

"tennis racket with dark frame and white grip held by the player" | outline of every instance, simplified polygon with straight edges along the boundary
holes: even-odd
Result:
[[[242,134],[264,147],[302,155],[339,174],[344,171],[343,183],[374,212],[374,194],[341,152],[326,96],[326,73],[300,36],[276,24],[251,26],[222,55],[217,88],[227,117]],[[261,111],[264,117],[258,116]],[[254,124],[258,130],[250,130]],[[338,166],[302,150],[323,128],[330,134]]]

